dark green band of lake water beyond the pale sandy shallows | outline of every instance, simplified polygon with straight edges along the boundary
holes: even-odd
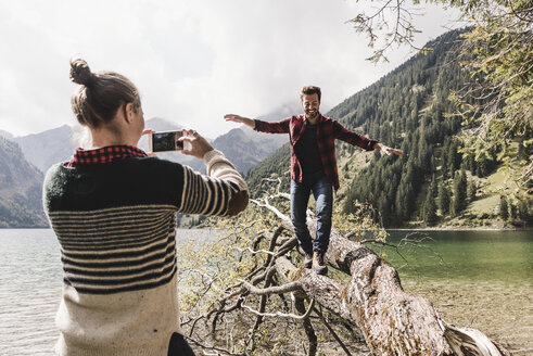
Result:
[[[401,240],[421,238],[421,247]],[[409,234],[392,231],[389,242],[401,243],[401,253],[409,265],[401,276],[464,281],[533,280],[533,236],[530,231],[424,231]],[[385,249],[388,260],[399,267],[404,260]],[[442,260],[441,260],[442,258]]]

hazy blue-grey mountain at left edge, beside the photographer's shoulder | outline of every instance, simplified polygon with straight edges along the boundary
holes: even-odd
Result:
[[[0,227],[48,227],[42,211],[42,173],[21,148],[0,137]]]

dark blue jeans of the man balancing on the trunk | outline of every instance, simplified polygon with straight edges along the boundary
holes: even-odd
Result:
[[[306,225],[306,211],[309,195],[313,192],[317,208],[317,236],[312,243],[309,229]],[[291,180],[291,220],[294,234],[305,253],[327,251],[331,232],[331,214],[333,212],[333,189],[323,173],[307,175],[302,182]]]

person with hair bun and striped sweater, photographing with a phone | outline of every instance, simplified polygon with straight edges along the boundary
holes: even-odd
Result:
[[[183,154],[207,176],[148,156],[139,92],[125,76],[71,61],[73,112],[92,148],[52,166],[45,211],[61,245],[58,355],[193,355],[179,323],[176,213],[233,216],[248,187],[221,152],[193,130]]]

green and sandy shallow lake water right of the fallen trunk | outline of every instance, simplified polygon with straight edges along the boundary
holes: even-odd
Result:
[[[471,327],[516,355],[533,355],[533,231],[392,231],[384,249],[402,285],[433,302],[444,320]],[[402,267],[404,266],[404,267]]]

